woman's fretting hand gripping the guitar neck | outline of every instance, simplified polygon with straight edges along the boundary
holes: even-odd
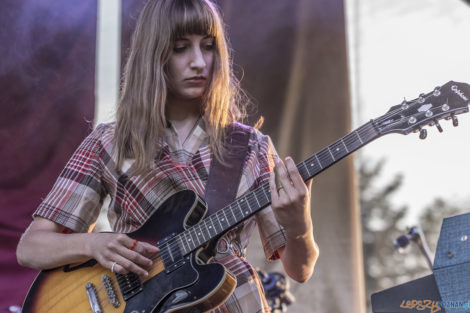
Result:
[[[278,184],[276,184],[277,175]],[[271,206],[276,219],[286,233],[297,236],[312,231],[310,217],[310,187],[312,180],[304,182],[291,157],[276,160],[275,173],[271,173],[269,187]]]

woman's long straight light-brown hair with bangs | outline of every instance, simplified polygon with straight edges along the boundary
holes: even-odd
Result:
[[[246,98],[233,75],[218,8],[210,0],[150,0],[137,20],[124,68],[115,129],[118,169],[128,158],[135,160],[133,174],[152,168],[167,125],[166,64],[173,41],[186,34],[215,38],[212,80],[202,115],[211,149],[222,161],[224,128],[244,117],[240,100]]]

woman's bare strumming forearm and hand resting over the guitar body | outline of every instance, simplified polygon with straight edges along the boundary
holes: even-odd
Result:
[[[158,248],[136,242],[125,234],[74,233],[50,220],[36,217],[20,239],[16,250],[22,266],[49,269],[71,263],[96,259],[103,267],[125,274],[129,271],[146,276],[152,256]],[[131,249],[132,248],[132,249]]]

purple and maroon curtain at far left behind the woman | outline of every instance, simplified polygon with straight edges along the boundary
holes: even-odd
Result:
[[[15,249],[31,214],[89,133],[96,0],[0,2],[0,311],[37,271]]]

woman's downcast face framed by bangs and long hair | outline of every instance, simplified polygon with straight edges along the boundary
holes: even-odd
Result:
[[[215,39],[212,36],[185,35],[173,42],[168,62],[169,92],[183,100],[204,95],[212,79]]]

